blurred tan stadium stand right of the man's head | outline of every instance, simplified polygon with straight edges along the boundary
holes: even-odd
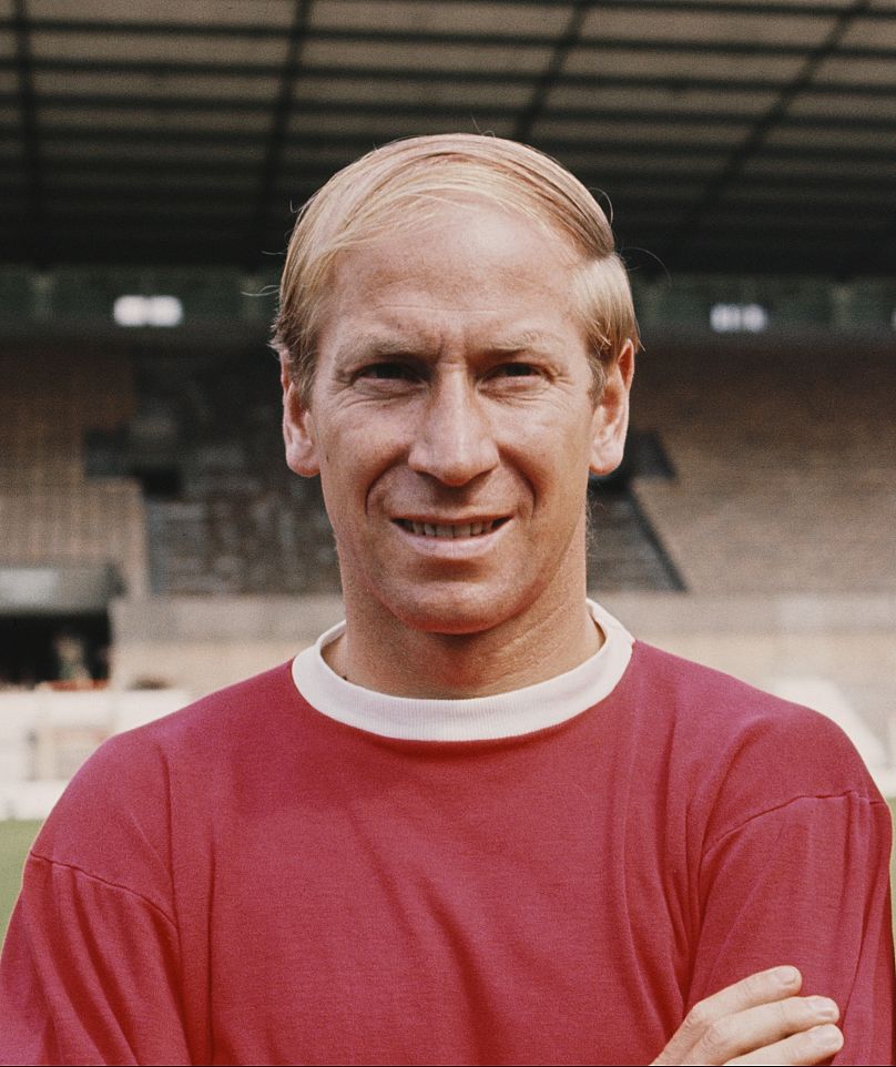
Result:
[[[896,592],[892,344],[649,346],[635,413],[678,477],[637,496],[696,595]]]

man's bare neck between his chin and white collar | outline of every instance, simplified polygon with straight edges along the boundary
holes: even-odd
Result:
[[[461,634],[415,629],[346,589],[346,629],[325,659],[355,685],[394,697],[461,699],[534,685],[603,643],[586,606],[583,571],[574,588],[554,588],[528,610]]]

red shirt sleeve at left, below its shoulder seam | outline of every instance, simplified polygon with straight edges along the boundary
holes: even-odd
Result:
[[[0,1061],[191,1063],[179,969],[156,905],[32,853],[0,967]]]

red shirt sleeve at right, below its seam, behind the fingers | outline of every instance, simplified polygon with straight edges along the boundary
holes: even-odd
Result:
[[[833,997],[835,1064],[893,1064],[889,810],[855,792],[800,796],[704,854],[689,1006],[756,971],[794,964],[804,994]]]

